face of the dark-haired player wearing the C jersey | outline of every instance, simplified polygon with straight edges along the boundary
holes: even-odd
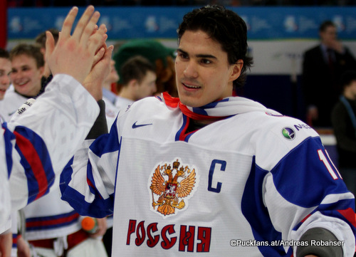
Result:
[[[231,96],[242,63],[230,65],[220,43],[203,31],[186,31],[175,63],[179,99],[184,105],[201,107]]]

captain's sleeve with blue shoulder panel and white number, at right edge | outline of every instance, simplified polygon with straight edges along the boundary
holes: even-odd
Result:
[[[306,138],[283,157],[266,176],[264,188],[271,222],[283,240],[299,242],[310,229],[327,229],[340,241],[344,256],[353,255],[355,199],[319,137]]]

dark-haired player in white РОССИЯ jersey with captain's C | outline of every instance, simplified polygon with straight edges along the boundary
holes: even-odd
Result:
[[[179,98],[120,112],[63,170],[62,198],[80,214],[113,212],[112,256],[353,256],[354,197],[318,134],[232,96],[251,65],[244,20],[204,6],[177,31]]]

